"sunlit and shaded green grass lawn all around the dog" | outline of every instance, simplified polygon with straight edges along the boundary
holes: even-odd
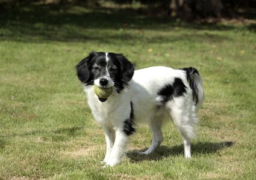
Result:
[[[75,5],[1,10],[0,179],[256,179],[252,27]],[[134,153],[151,143],[142,126],[122,164],[102,169],[104,133],[73,69],[92,50],[123,53],[137,69],[199,70],[206,96],[191,160],[169,123],[156,152]]]

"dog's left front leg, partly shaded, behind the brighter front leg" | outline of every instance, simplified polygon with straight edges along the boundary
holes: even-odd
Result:
[[[105,133],[106,146],[107,146],[104,162],[107,163],[114,145],[114,129],[108,126],[103,126],[103,129]]]

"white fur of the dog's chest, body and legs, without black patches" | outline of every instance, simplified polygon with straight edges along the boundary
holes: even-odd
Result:
[[[157,108],[161,104],[158,91],[167,83],[172,83],[175,77],[183,81],[187,92],[180,97],[174,97],[160,109]],[[196,85],[202,87],[201,77],[196,78]],[[98,80],[95,83],[97,85]],[[125,152],[130,136],[123,133],[123,121],[130,118],[130,102],[133,102],[135,124],[145,122],[152,131],[152,145],[145,152],[140,152],[141,154],[151,153],[163,142],[161,126],[164,121],[172,118],[184,139],[184,156],[190,158],[190,139],[195,137],[194,125],[198,121],[196,110],[203,100],[202,88],[199,91],[199,102],[195,106],[186,73],[168,67],[149,67],[135,71],[128,88],[123,89],[120,94],[113,91],[104,103],[98,100],[93,86],[84,86],[93,116],[104,128],[107,143],[104,162],[108,166],[114,166],[120,163]]]

